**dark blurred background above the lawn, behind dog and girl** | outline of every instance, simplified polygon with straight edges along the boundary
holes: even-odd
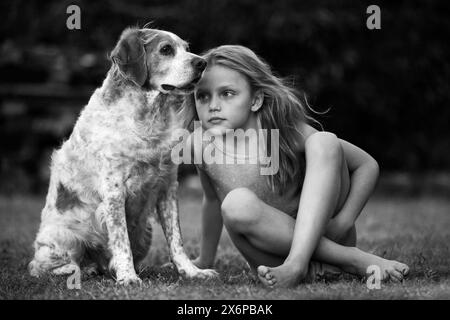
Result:
[[[81,9],[68,30],[66,9]],[[370,4],[381,30],[366,27]],[[242,44],[304,91],[325,128],[379,162],[379,188],[450,191],[449,7],[443,0],[3,0],[0,193],[42,194],[49,156],[100,86],[130,25],[178,34],[194,53]],[[182,167],[182,177],[192,173]]]

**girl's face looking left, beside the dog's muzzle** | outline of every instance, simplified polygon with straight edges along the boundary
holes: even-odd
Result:
[[[227,129],[248,129],[256,124],[251,111],[252,92],[245,76],[220,65],[208,67],[194,91],[203,128],[214,135]]]

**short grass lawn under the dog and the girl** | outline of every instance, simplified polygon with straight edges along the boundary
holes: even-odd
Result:
[[[180,188],[185,248],[198,253],[201,191],[195,180]],[[69,290],[65,277],[32,278],[27,264],[37,232],[44,196],[0,196],[0,299],[450,299],[450,199],[415,196],[371,199],[357,223],[358,246],[411,268],[402,284],[367,289],[364,282],[344,276],[295,289],[267,289],[248,273],[244,260],[224,232],[216,269],[220,279],[180,279],[162,268],[168,250],[155,226],[153,245],[140,277],[141,287],[124,288],[107,277],[83,278],[81,290]]]

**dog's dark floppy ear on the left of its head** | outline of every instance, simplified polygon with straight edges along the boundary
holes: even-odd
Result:
[[[129,79],[141,87],[144,85],[148,70],[146,52],[139,30],[125,30],[110,57]]]

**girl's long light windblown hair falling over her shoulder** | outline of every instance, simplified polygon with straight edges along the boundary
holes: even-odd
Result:
[[[253,93],[262,91],[264,101],[256,114],[262,129],[268,131],[269,142],[271,129],[279,130],[279,170],[275,175],[268,176],[269,184],[272,190],[283,193],[292,182],[298,183],[294,179],[297,180],[304,170],[304,163],[298,154],[303,139],[300,125],[302,122],[313,122],[321,127],[317,120],[308,115],[306,99],[302,102],[299,92],[290,87],[286,80],[274,75],[270,66],[249,48],[224,45],[208,50],[202,56],[208,67],[220,65],[235,70],[247,78]],[[185,100],[182,110],[186,112],[187,109],[195,110],[193,95]],[[198,116],[194,117],[198,119]]]

